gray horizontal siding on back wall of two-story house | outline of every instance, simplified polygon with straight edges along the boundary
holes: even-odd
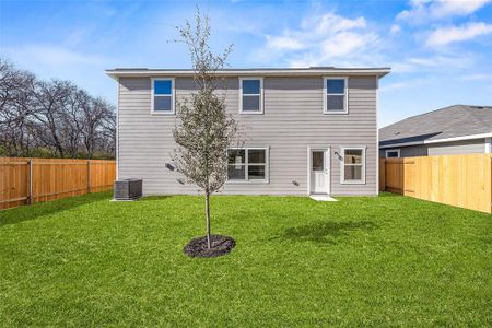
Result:
[[[188,98],[191,78],[176,78],[176,99]],[[174,116],[150,113],[150,78],[119,79],[119,178],[143,178],[145,195],[196,194],[165,167],[175,148]],[[331,148],[331,194],[375,195],[377,161],[376,77],[349,79],[349,115],[323,114],[320,77],[263,79],[263,115],[238,114],[238,77],[226,80],[227,112],[245,131],[246,147],[269,147],[269,183],[227,184],[224,194],[306,195],[307,148]],[[341,185],[340,147],[366,147],[366,184]],[[293,181],[296,181],[295,185]]]

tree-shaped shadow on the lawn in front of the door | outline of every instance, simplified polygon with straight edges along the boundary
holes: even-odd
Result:
[[[350,235],[353,231],[372,231],[377,225],[371,221],[317,222],[309,225],[289,227],[280,237],[294,242],[336,244],[336,239]]]

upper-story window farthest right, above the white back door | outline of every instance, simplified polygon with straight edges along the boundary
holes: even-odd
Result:
[[[348,79],[326,78],[324,95],[325,114],[348,114]]]

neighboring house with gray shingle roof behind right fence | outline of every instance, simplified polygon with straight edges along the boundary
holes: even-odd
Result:
[[[380,157],[491,153],[492,107],[455,105],[379,129]]]

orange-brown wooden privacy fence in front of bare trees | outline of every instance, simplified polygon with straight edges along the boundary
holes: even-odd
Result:
[[[110,189],[116,162],[0,157],[0,209]]]

